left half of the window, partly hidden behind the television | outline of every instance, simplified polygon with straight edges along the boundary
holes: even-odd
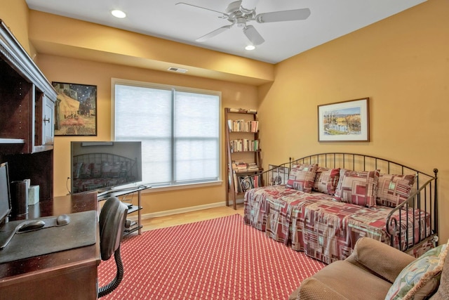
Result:
[[[170,183],[172,91],[115,87],[115,139],[142,141],[143,182]]]

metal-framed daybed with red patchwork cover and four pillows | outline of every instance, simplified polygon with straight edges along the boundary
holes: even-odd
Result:
[[[279,170],[288,178],[270,181]],[[324,263],[346,259],[359,237],[419,256],[437,240],[437,172],[369,155],[309,155],[244,179],[244,219]],[[262,176],[281,184],[253,188]]]

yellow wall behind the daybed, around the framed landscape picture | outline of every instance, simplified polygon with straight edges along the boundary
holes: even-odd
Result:
[[[356,152],[438,168],[449,237],[449,1],[429,0],[276,65],[260,88],[264,164]],[[317,105],[370,97],[370,142],[319,143]],[[269,141],[269,142],[267,142]]]

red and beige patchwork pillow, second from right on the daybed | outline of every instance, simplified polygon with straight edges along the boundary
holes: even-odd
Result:
[[[376,190],[380,170],[350,171],[340,169],[340,181],[335,190],[335,200],[360,205],[376,206]]]

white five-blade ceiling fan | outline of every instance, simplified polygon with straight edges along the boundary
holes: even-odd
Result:
[[[217,34],[225,32],[231,29],[234,25],[243,29],[243,34],[250,40],[251,44],[254,46],[262,44],[265,40],[255,29],[253,25],[247,25],[247,22],[256,21],[258,23],[268,23],[268,22],[282,22],[282,21],[295,21],[295,20],[305,20],[309,18],[310,9],[301,8],[293,9],[290,11],[273,11],[271,13],[259,13],[256,14],[255,6],[259,0],[241,0],[234,1],[230,3],[225,13],[221,11],[215,11],[210,8],[196,6],[194,4],[187,4],[185,2],[179,2],[175,5],[186,6],[189,8],[198,8],[202,11],[208,11],[209,13],[217,14],[218,18],[228,20],[231,25],[226,25],[220,27],[208,34],[204,34],[202,37],[196,39],[196,41],[207,41],[208,39],[215,37]]]

